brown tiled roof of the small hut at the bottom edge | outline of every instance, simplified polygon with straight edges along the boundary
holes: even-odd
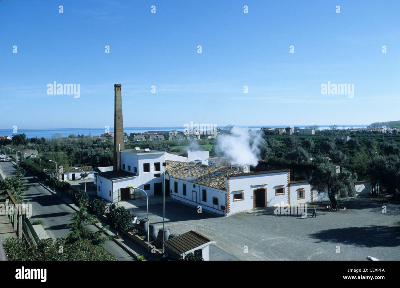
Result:
[[[178,254],[183,254],[208,242],[213,242],[213,244],[215,243],[215,241],[203,234],[192,230],[166,240],[164,243]]]

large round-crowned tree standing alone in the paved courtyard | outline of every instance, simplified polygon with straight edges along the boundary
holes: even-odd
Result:
[[[332,208],[338,209],[336,196],[339,193],[341,196],[345,196],[346,191],[348,195],[354,195],[356,180],[357,174],[349,170],[335,167],[332,163],[321,163],[312,172],[310,184],[318,193],[327,192]]]

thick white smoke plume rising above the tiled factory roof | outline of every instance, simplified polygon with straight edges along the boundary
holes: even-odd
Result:
[[[264,142],[260,131],[249,131],[246,128],[234,126],[232,134],[221,134],[217,137],[218,150],[232,158],[232,164],[239,166],[257,166],[260,157],[260,146]]]

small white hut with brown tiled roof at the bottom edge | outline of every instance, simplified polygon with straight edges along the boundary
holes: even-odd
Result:
[[[189,231],[164,241],[165,251],[173,259],[184,258],[193,253],[208,261],[208,246],[216,242],[196,231]]]

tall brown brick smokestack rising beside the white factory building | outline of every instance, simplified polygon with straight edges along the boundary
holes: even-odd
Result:
[[[118,165],[118,144],[121,150],[125,150],[121,86],[121,84],[114,85],[114,171],[120,170]]]

